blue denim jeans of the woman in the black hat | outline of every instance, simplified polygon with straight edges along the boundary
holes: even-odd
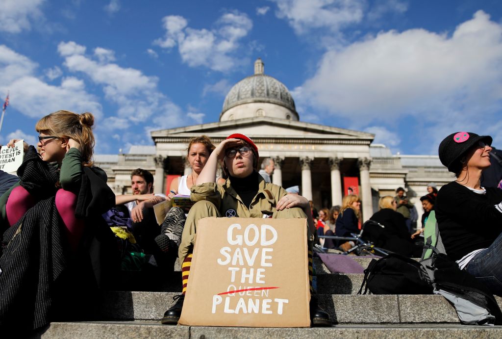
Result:
[[[465,269],[491,293],[502,296],[502,233],[487,249],[476,254]]]

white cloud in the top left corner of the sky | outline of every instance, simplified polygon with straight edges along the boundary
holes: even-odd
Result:
[[[2,0],[0,32],[20,33],[31,30],[32,20],[44,18],[40,8],[45,0]]]

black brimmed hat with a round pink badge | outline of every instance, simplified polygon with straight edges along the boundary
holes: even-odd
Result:
[[[455,132],[443,139],[439,144],[439,160],[448,167],[448,171],[455,172],[460,163],[460,158],[478,141],[491,145],[490,136],[478,136],[471,132]]]

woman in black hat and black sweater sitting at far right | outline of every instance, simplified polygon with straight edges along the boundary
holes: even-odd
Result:
[[[491,141],[458,132],[441,142],[439,159],[456,180],[441,187],[434,207],[448,257],[502,295],[502,190],[480,184]]]

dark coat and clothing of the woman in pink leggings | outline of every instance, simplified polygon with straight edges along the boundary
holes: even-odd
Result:
[[[85,231],[77,253],[71,253],[55,204],[57,169],[44,162],[30,146],[19,174],[21,186],[37,196],[39,202],[3,235],[0,330],[10,327],[19,333],[55,319],[96,314],[89,312],[87,306],[97,307],[97,288],[103,285],[107,274],[112,276],[119,268],[113,234],[101,215],[96,214],[113,206],[114,200],[110,205],[109,199],[113,192],[92,175],[92,170],[84,169],[77,205],[87,212],[83,214]]]

